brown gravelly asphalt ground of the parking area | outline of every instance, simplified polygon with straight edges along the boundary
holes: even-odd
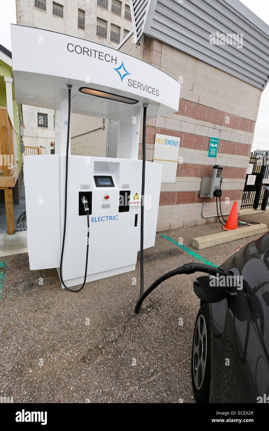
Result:
[[[241,219],[269,224],[268,212]],[[190,246],[192,238],[220,228],[215,223],[164,234],[182,237],[186,247],[220,265],[235,247],[255,239],[199,251]],[[73,294],[60,287],[56,269],[30,271],[27,253],[5,260],[1,396],[13,396],[14,403],[195,402],[190,358],[199,300],[193,293],[194,275],[165,281],[135,315],[139,264],[133,272],[93,281]],[[156,234],[155,247],[145,250],[145,288],[193,260]]]

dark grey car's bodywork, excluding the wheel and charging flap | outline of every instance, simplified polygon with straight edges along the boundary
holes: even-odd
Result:
[[[257,403],[269,396],[269,232],[221,265],[243,276],[225,300],[209,304],[211,384],[216,403]]]

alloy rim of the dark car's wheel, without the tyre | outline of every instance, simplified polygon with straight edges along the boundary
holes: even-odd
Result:
[[[206,349],[206,321],[203,314],[200,314],[196,322],[193,338],[193,378],[197,390],[201,389],[205,377]]]

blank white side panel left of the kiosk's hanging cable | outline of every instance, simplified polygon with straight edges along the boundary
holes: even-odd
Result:
[[[30,269],[60,265],[59,156],[25,156],[24,182]]]

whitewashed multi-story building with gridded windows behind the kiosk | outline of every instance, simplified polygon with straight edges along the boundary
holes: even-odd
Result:
[[[17,24],[45,28],[97,42],[117,45],[132,28],[128,0],[16,0]],[[24,145],[54,149],[54,111],[23,105]],[[106,123],[94,117],[72,114],[71,152],[88,155],[92,141],[98,154],[106,155]],[[91,150],[93,151],[93,150]]]

